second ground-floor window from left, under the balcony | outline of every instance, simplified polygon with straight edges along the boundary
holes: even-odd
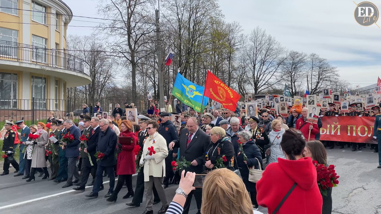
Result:
[[[46,78],[32,76],[32,97],[35,109],[46,109]]]

